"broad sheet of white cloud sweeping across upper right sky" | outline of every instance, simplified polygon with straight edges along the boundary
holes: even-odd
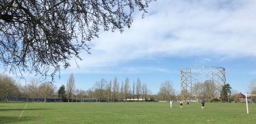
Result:
[[[247,1],[153,1],[149,14],[134,15],[124,33],[103,32],[92,40],[92,55],[81,53],[79,72],[107,72],[104,67],[156,57],[239,58],[256,56],[256,3]],[[77,69],[75,61],[70,69]],[[117,73],[146,67],[122,67]],[[161,71],[161,69],[155,69]],[[78,70],[77,70],[78,71]],[[162,70],[168,72],[168,70]]]

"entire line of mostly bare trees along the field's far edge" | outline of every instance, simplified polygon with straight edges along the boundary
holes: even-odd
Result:
[[[250,88],[251,94],[256,94],[256,78],[251,81],[251,84],[248,86]],[[218,94],[218,90],[220,93]],[[100,81],[94,83],[94,86],[88,90],[75,89],[75,78],[73,73],[68,78],[66,86],[62,86],[57,89],[56,85],[51,82],[40,82],[37,79],[31,79],[22,85],[17,83],[16,80],[10,78],[10,76],[5,74],[0,74],[0,97],[5,97],[6,102],[8,102],[8,97],[24,97],[24,98],[43,98],[44,102],[47,99],[61,99],[65,101],[66,99],[69,102],[69,99],[79,99],[83,98],[97,98],[107,101],[127,101],[135,100],[139,101],[155,101],[157,100],[206,100],[207,102],[212,101],[234,101],[237,99],[235,94],[238,91],[231,89],[229,84],[225,84],[222,89],[217,89],[216,84],[212,83],[211,80],[205,80],[205,82],[194,84],[192,87],[192,93],[176,91],[173,88],[172,82],[166,80],[162,82],[159,87],[159,91],[153,95],[153,93],[148,89],[146,83],[140,81],[140,78],[133,83],[129,82],[129,78],[125,79],[125,82],[118,82],[117,77],[114,78],[113,82],[110,80],[107,82],[104,78]],[[191,97],[192,94],[192,97]],[[218,97],[219,96],[219,97]]]

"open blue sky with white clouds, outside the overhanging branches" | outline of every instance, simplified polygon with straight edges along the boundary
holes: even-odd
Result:
[[[255,6],[255,0],[152,1],[145,18],[138,8],[133,13],[130,29],[100,31],[88,42],[92,54],[81,52],[79,68],[72,59],[54,83],[66,85],[73,72],[77,89],[90,89],[102,78],[113,82],[116,76],[120,84],[128,77],[130,86],[140,78],[153,94],[170,80],[179,92],[182,68],[210,65],[224,67],[226,83],[246,94],[256,78]]]

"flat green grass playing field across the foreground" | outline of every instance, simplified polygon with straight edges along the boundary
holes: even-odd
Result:
[[[25,108],[26,106],[26,108]],[[25,108],[25,109],[24,109]],[[256,123],[256,104],[0,103],[0,123]]]

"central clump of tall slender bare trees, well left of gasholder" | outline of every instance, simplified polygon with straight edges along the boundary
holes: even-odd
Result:
[[[138,78],[137,82],[133,81],[133,85],[131,87],[129,78],[126,78],[125,82],[122,81],[122,83],[119,84],[115,77],[113,82],[110,80],[110,82],[107,83],[104,78],[102,78],[101,81],[96,82],[94,87],[92,87],[92,95],[93,97],[99,98],[99,100],[149,100],[151,91],[147,89],[146,83],[141,83],[140,78]]]

